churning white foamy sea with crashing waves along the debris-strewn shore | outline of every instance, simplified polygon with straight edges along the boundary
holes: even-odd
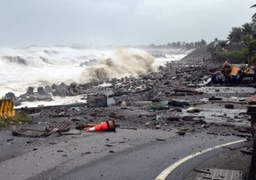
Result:
[[[154,71],[167,61],[177,61],[186,52],[179,50],[161,52],[164,57],[154,58],[151,51],[138,48],[74,49],[72,47],[29,47],[24,49],[0,49],[0,95],[14,92],[16,96],[26,92],[28,86],[35,88],[53,83],[86,83],[92,79],[102,80],[123,76],[139,76]],[[90,60],[98,60],[92,66],[81,66]],[[54,97],[53,102],[38,104],[67,104],[79,101],[79,97]],[[24,104],[22,104],[24,105]]]

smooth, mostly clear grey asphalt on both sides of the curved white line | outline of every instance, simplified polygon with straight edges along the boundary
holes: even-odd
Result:
[[[82,180],[82,179],[155,179],[163,169],[187,155],[200,152],[231,141],[242,140],[237,136],[218,136],[207,133],[193,133],[175,136],[169,140],[157,140],[151,143],[128,148],[117,153],[109,153],[97,160],[80,165],[71,171],[51,169],[41,174],[41,179]],[[245,142],[246,143],[246,142]],[[237,143],[229,147],[245,144]],[[184,180],[185,177],[202,162],[215,157],[229,148],[217,148],[198,155],[174,169],[166,179]],[[38,179],[38,176],[31,179]]]

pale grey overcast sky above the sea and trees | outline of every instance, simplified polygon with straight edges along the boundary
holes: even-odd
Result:
[[[255,0],[1,0],[0,46],[226,40]]]

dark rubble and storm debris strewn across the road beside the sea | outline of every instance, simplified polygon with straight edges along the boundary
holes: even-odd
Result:
[[[28,113],[33,121],[15,128],[13,135],[26,135],[31,129],[65,123],[69,123],[70,131],[84,131],[86,127],[112,119],[120,129],[175,131],[180,136],[207,131],[219,136],[242,135],[249,139],[250,116],[246,114],[246,99],[255,93],[255,84],[232,87],[213,84],[211,77],[221,64],[215,61],[175,61],[157,72],[136,78],[61,83],[38,87],[37,90],[28,87],[19,97],[9,92],[5,97],[12,97],[15,105],[25,101],[51,101],[55,96],[81,95],[85,100],[84,104],[18,109],[17,112]],[[47,137],[55,128],[36,133],[35,137]],[[61,134],[59,128],[56,129]],[[164,141],[161,138],[156,140]]]

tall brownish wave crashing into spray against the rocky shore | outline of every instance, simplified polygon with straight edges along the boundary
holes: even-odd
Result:
[[[118,49],[116,54],[99,60],[83,70],[82,81],[105,81],[124,76],[139,76],[154,71],[154,57],[144,50]]]

